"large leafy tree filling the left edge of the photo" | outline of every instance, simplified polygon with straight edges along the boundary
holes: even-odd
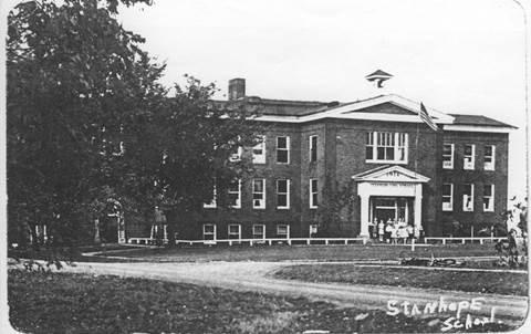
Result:
[[[129,6],[148,0],[122,0]],[[117,0],[18,4],[8,17],[11,240],[45,223],[56,244],[87,239],[102,192],[116,194],[127,124],[164,103],[164,65],[116,21]],[[105,189],[108,187],[108,191]],[[105,188],[105,189],[104,189]]]

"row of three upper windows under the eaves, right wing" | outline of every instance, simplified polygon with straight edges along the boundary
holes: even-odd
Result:
[[[442,145],[442,168],[454,169],[455,144],[445,143]],[[483,170],[494,170],[496,167],[496,146],[483,146]],[[476,145],[465,144],[462,155],[462,169],[476,169]]]

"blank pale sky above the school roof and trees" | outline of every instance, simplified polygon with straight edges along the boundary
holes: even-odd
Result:
[[[518,126],[510,135],[509,197],[525,191],[524,25],[512,0],[154,0],[122,9],[124,28],[184,74],[247,80],[247,95],[356,101],[364,76],[394,75],[386,93],[445,113],[482,114]]]

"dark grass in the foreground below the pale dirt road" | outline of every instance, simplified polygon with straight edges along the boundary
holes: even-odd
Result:
[[[426,333],[440,332],[444,321],[155,280],[8,274],[11,324],[31,333]],[[509,330],[513,327],[487,324],[470,331]]]

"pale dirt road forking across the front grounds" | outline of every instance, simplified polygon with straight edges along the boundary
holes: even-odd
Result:
[[[313,264],[322,262],[312,262]],[[331,263],[331,262],[324,262]],[[332,302],[339,306],[355,306],[360,309],[388,310],[387,303],[396,301],[417,304],[420,311],[426,303],[440,302],[471,302],[478,300],[480,307],[477,311],[464,310],[467,313],[481,316],[491,316],[494,307],[494,317],[506,323],[520,322],[527,316],[528,298],[446,291],[437,289],[416,289],[383,285],[350,285],[339,283],[312,283],[302,281],[277,280],[269,273],[293,264],[308,264],[308,262],[204,262],[204,263],[77,263],[67,267],[71,272],[117,274],[124,276],[139,276],[171,282],[194,283],[206,286],[217,286],[237,291],[253,291],[272,293],[283,296],[303,296],[312,301]],[[451,306],[450,306],[451,309]],[[456,310],[440,314],[452,316]]]

